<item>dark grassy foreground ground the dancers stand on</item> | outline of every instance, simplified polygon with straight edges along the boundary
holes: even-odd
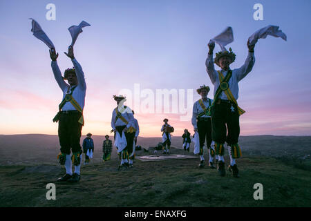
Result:
[[[269,157],[243,157],[240,178],[198,169],[198,159],[135,161],[117,171],[117,160],[82,166],[79,183],[57,183],[58,165],[0,166],[0,206],[311,206],[310,171]],[[56,200],[46,200],[46,184]],[[263,200],[254,200],[254,184]]]

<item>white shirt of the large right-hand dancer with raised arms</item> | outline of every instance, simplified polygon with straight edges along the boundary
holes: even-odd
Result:
[[[236,100],[238,99],[238,81],[241,81],[241,79],[243,79],[252,70],[254,64],[255,64],[254,52],[249,52],[243,66],[241,66],[241,68],[236,68],[232,70],[232,77],[229,79],[228,84],[229,84],[229,89],[231,90]],[[213,55],[207,56],[205,65],[207,67],[207,73],[209,74],[211,83],[214,84],[214,95],[215,95],[220,82],[219,82],[218,72],[214,68]],[[223,73],[224,77],[228,73],[225,70],[221,70],[221,72]],[[227,99],[227,96],[225,95],[224,92],[222,92],[220,93],[218,98]]]

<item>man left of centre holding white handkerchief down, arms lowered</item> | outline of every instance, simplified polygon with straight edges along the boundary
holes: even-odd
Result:
[[[126,97],[122,95],[114,95],[113,99],[117,102],[117,107],[113,110],[111,118],[111,127],[115,133],[115,146],[117,151],[121,153],[122,160],[119,169],[124,166],[129,167],[129,153],[133,151],[133,142],[135,132],[133,128],[133,112],[128,106],[124,106],[123,103],[126,101]],[[125,135],[125,139],[123,134]],[[120,140],[119,140],[120,139]]]

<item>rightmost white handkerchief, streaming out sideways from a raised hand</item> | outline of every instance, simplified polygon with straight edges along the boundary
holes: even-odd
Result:
[[[254,34],[248,38],[249,45],[256,44],[258,39],[265,39],[267,35],[271,35],[274,37],[281,37],[285,41],[287,40],[286,35],[281,30],[279,30],[279,26],[270,25],[270,26],[266,26],[265,28],[261,28],[257,30],[256,32],[254,32]]]

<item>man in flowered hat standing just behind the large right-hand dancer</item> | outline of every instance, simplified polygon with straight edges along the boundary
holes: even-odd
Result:
[[[200,152],[198,153],[200,156],[199,167],[202,168],[205,166],[203,146],[206,140],[206,146],[209,150],[209,167],[211,169],[215,169],[213,162],[215,152],[214,149],[211,148],[211,116],[209,116],[209,108],[213,100],[207,97],[207,94],[209,93],[209,86],[200,86],[200,88],[196,91],[199,95],[201,95],[201,99],[194,103],[191,123],[194,126],[194,131],[198,131],[200,139]]]

